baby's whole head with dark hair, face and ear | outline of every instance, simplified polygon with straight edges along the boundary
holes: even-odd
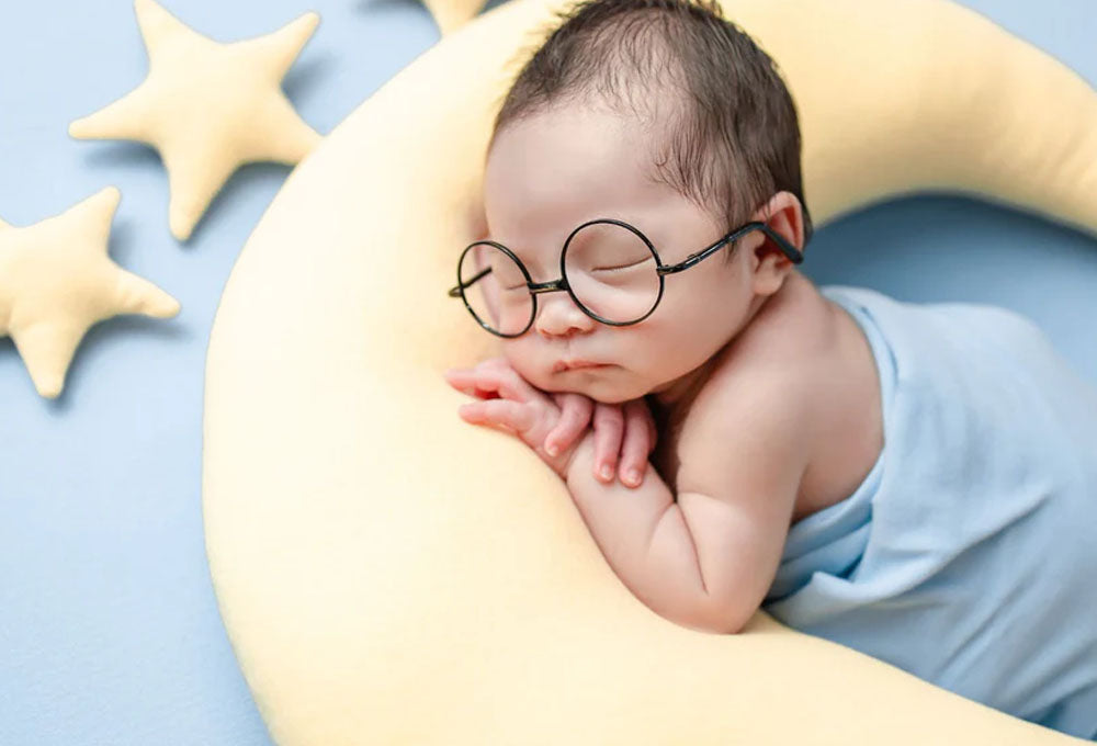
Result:
[[[772,238],[748,230],[664,275],[658,296],[651,249],[663,264],[677,264],[753,221],[803,249],[812,224],[796,111],[771,59],[721,18],[715,0],[588,0],[562,18],[496,118],[486,238],[512,251],[533,283],[547,283],[561,278],[561,249],[581,224],[611,218],[635,227],[649,247],[620,225],[579,230],[566,271],[596,315],[643,318],[603,324],[572,293],[539,293],[532,324],[502,339],[504,354],[544,391],[606,403],[672,393],[795,270]],[[599,251],[620,256],[609,262]],[[516,276],[513,297],[528,308]],[[637,305],[637,297],[646,299]],[[489,313],[505,302],[490,299]],[[575,360],[608,366],[558,370]]]

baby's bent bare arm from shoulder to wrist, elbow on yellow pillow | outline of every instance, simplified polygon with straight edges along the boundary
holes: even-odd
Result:
[[[784,547],[806,437],[788,387],[711,395],[679,441],[678,500],[656,470],[636,489],[590,477],[589,436],[567,486],[614,573],[670,621],[736,633],[766,597]],[[700,423],[697,423],[697,422]]]

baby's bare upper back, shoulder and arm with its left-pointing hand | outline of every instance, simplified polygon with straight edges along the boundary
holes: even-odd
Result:
[[[656,473],[631,494],[590,475],[589,430],[548,457],[541,443],[558,409],[506,362],[493,365],[488,377],[527,392],[499,403],[496,421],[565,479],[630,589],[693,629],[742,630],[772,583],[789,527],[848,497],[883,447],[868,340],[795,271],[690,386],[634,400],[652,407],[658,441]]]

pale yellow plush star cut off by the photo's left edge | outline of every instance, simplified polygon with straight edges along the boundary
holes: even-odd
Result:
[[[11,336],[38,394],[55,398],[88,328],[118,314],[167,318],[179,302],[106,256],[122,194],[108,187],[18,228],[0,221],[0,337]]]

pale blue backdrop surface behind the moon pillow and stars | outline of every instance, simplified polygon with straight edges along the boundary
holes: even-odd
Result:
[[[1093,0],[964,4],[1097,83]],[[439,38],[415,0],[166,7],[222,42],[319,11],[284,88],[321,134]],[[0,217],[29,225],[116,184],[111,256],[182,303],[170,320],[123,316],[92,327],[53,402],[34,392],[11,340],[0,340],[3,746],[271,743],[205,557],[202,389],[224,283],[290,169],[245,167],[192,238],[176,241],[155,150],[67,135],[69,122],[128,92],[146,71],[129,2],[2,0]],[[1097,382],[1093,237],[986,202],[917,196],[818,229],[806,258],[801,269],[818,284],[1025,313]]]

